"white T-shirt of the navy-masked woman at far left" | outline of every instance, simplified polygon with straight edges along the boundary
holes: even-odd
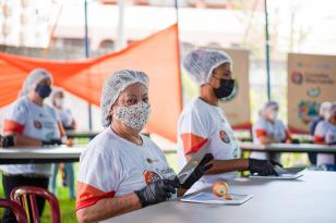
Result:
[[[59,139],[58,116],[55,110],[44,104],[35,104],[26,97],[19,98],[4,119],[3,132],[15,132],[39,140]],[[9,148],[10,149],[10,148]],[[51,175],[52,164],[10,164],[1,165],[9,174]]]

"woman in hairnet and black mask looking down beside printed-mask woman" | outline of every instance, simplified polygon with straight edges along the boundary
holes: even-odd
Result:
[[[178,123],[178,159],[180,166],[209,141],[213,168],[188,191],[209,186],[217,179],[232,178],[237,171],[250,170],[261,175],[276,174],[271,162],[241,159],[238,141],[218,101],[235,90],[232,61],[220,51],[197,49],[188,53],[183,69],[200,85],[201,95],[187,104]]]

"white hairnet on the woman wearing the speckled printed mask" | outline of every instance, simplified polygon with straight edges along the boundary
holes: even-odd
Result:
[[[141,71],[121,70],[115,72],[105,80],[100,99],[101,123],[105,127],[111,124],[111,106],[122,90],[135,83],[141,83],[148,87],[147,74]]]

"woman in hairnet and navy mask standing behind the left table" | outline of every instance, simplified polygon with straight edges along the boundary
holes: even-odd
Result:
[[[36,69],[24,80],[21,97],[13,102],[4,119],[1,138],[2,147],[27,147],[59,144],[62,126],[55,110],[44,103],[51,92],[51,75]],[[10,164],[1,165],[4,195],[17,186],[48,188],[52,164]],[[37,198],[39,214],[45,201]],[[16,222],[14,214],[7,210],[2,222]]]

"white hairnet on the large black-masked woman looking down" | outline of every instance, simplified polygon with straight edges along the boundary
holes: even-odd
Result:
[[[230,55],[226,52],[197,49],[188,53],[183,60],[183,69],[199,85],[207,84],[213,75],[213,70],[224,63],[232,64]]]

